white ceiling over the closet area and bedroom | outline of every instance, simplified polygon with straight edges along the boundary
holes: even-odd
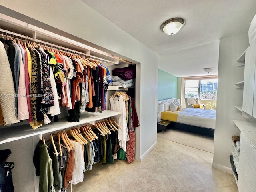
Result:
[[[256,0],[82,1],[159,54],[158,67],[178,77],[206,75],[206,67],[217,74],[219,39],[247,33],[256,14]],[[168,36],[160,26],[174,17],[186,23]]]

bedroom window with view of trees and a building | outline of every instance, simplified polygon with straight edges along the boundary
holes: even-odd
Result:
[[[184,85],[185,98],[217,99],[218,78],[184,78]]]

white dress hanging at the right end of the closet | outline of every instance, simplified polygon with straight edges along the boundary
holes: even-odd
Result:
[[[124,97],[111,97],[110,99],[110,108],[112,111],[118,111],[122,114],[115,116],[115,121],[121,127],[118,129],[118,143],[120,148],[126,151],[126,142],[129,141],[128,128],[126,123],[126,108],[124,103]]]

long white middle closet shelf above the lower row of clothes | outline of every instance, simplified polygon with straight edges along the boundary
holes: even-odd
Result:
[[[94,124],[95,121],[102,120],[108,117],[116,116],[121,114],[120,112],[105,110],[102,113],[90,113],[85,112],[80,114],[79,122],[67,122],[66,118],[60,118],[56,123],[51,122],[48,125],[44,125],[36,130],[33,130],[29,124],[13,124],[12,126],[6,126],[0,128],[0,144],[12,142],[15,140],[36,136],[40,134],[46,134],[55,132],[58,130],[70,128],[72,126],[79,126],[82,124]]]

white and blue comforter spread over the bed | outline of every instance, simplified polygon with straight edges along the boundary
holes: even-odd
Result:
[[[177,122],[215,129],[216,110],[186,108],[178,114]]]

